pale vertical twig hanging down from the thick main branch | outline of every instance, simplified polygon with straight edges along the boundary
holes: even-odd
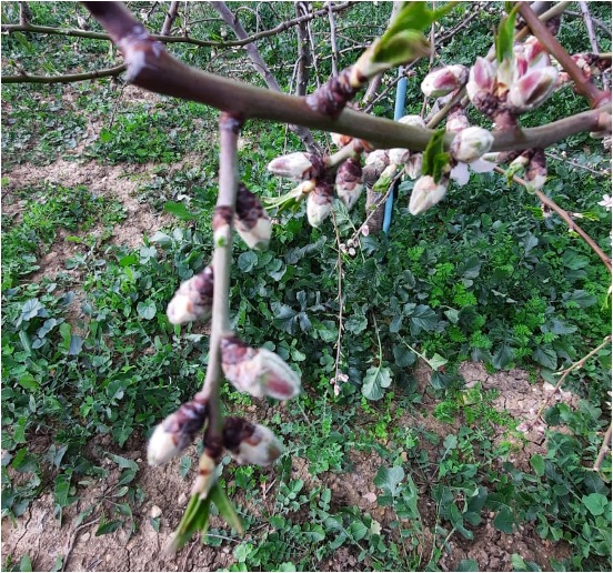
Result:
[[[220,168],[219,195],[215,209],[230,208],[234,213],[237,190],[239,183],[238,141],[242,122],[237,118],[222,113],[220,127]],[[232,262],[232,218],[229,224],[215,232],[213,252],[213,269],[215,273],[213,288],[213,309],[211,320],[211,338],[209,348],[209,364],[207,376],[200,394],[209,401],[209,429],[205,441],[214,445],[221,441],[223,413],[219,398],[221,381],[220,341],[230,330],[230,268]]]

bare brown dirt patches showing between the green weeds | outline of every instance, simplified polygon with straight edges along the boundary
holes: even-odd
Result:
[[[89,129],[93,130],[94,127]],[[77,159],[77,155],[76,155]],[[151,165],[110,167],[98,162],[79,162],[60,159],[44,168],[31,164],[13,167],[2,173],[8,183],[2,189],[2,209],[19,217],[22,204],[16,199],[14,191],[44,181],[61,183],[64,187],[78,184],[88,185],[94,193],[114,197],[120,200],[127,212],[124,224],[114,230],[111,242],[137,247],[142,243],[144,234],[152,234],[169,222],[164,215],[152,211],[147,204],[135,199],[139,182],[147,180]],[[64,270],[66,260],[74,255],[79,247],[63,241],[62,233],[56,244],[41,261],[41,272],[53,274]],[[36,277],[34,277],[36,280]],[[535,452],[544,452],[543,435],[536,422],[535,412],[543,396],[551,388],[542,383],[529,383],[527,374],[522,371],[511,371],[496,374],[486,373],[480,364],[464,364],[461,373],[469,385],[481,382],[483,389],[496,389],[500,396],[496,405],[506,409],[517,418],[517,424],[526,421],[529,426],[527,441],[519,444],[514,462],[526,466],[527,460]],[[428,383],[428,366],[418,368],[418,380],[425,386]],[[556,395],[572,402],[570,395]],[[433,401],[424,400],[423,414],[406,415],[398,423],[422,424],[428,430],[445,436],[453,431],[452,426],[436,421],[431,414]],[[259,418],[265,419],[267,412]],[[74,525],[76,516],[100,497],[118,479],[115,465],[108,459],[105,452],[113,452],[135,461],[139,464],[137,485],[143,493],[144,502],[134,513],[135,531],[120,529],[114,533],[94,536],[99,525],[100,512],[93,512],[79,526]],[[53,496],[47,493],[26,511],[24,515],[13,524],[9,520],[2,522],[2,563],[7,556],[19,562],[28,554],[36,571],[50,571],[58,556],[63,559],[66,571],[211,571],[229,567],[233,562],[232,544],[221,547],[210,547],[193,541],[174,559],[167,560],[162,547],[169,540],[173,529],[179,523],[182,510],[187,504],[183,492],[189,489],[191,473],[187,480],[180,476],[179,461],[162,468],[148,469],[143,458],[145,444],[142,438],[131,439],[124,449],[119,450],[103,438],[96,439],[88,445],[88,453],[98,465],[105,466],[110,476],[104,482],[80,485],[77,491],[78,501],[64,510],[62,524],[53,514]],[[194,451],[191,454],[195,456]],[[351,473],[329,473],[313,478],[309,464],[303,459],[292,460],[297,478],[305,481],[306,486],[314,486],[323,481],[332,490],[332,504],[335,507],[355,505],[369,512],[381,523],[383,531],[389,529],[394,519],[389,509],[376,505],[373,479],[381,465],[381,460],[374,452],[353,452],[351,454],[353,471]],[[193,472],[193,470],[191,470]],[[274,469],[268,470],[269,483],[274,481]],[[239,500],[257,515],[271,512],[274,506],[275,487],[271,487],[264,507],[250,506],[249,500]],[[431,502],[420,504],[424,525],[423,546],[421,551],[428,556],[432,545],[430,530],[434,526],[434,511]],[[519,553],[526,561],[539,563],[544,570],[550,567],[551,559],[563,559],[566,555],[564,545],[551,545],[543,542],[530,527],[520,529],[513,535],[506,535],[493,527],[493,514],[475,529],[475,541],[468,542],[458,535],[451,539],[450,551],[443,555],[439,566],[443,571],[454,570],[462,559],[474,559],[481,571],[511,571],[511,555]],[[159,531],[153,527],[152,519],[159,519]],[[308,519],[308,517],[305,517]],[[91,520],[91,521],[90,521]],[[215,523],[212,524],[213,526]],[[249,535],[249,532],[248,532]],[[428,560],[426,560],[428,561]],[[358,562],[358,553],[351,549],[341,547],[333,559],[321,564],[322,571],[358,571],[368,570],[368,562]]]

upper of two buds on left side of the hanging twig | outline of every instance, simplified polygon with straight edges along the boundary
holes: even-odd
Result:
[[[200,274],[181,283],[167,309],[171,324],[210,319],[213,305],[213,267],[209,264]]]

